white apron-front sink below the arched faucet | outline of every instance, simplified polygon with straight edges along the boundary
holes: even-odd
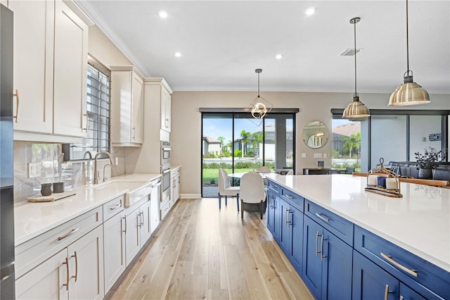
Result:
[[[102,182],[98,185],[90,187],[91,189],[96,189],[98,191],[108,190],[111,192],[121,192],[127,190],[125,194],[124,208],[128,208],[137,201],[141,200],[143,197],[148,196],[152,192],[152,184],[150,182],[144,181],[122,181],[122,180],[111,180],[108,182]]]

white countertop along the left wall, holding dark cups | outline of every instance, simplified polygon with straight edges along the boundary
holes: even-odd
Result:
[[[160,176],[160,174],[122,175],[108,180],[108,182],[121,182],[120,185],[110,184],[108,188],[100,189],[96,189],[92,185],[77,187],[74,189],[77,192],[75,196],[69,196],[58,201],[38,203],[22,201],[15,204],[15,246],[27,242],[27,240],[37,237],[68,220],[72,220],[82,213],[91,211],[117,196],[143,187],[143,185]],[[124,182],[127,183],[124,184]],[[101,187],[102,185],[100,183],[95,187]]]

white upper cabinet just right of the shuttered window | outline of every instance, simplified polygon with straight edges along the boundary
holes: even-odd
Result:
[[[143,76],[134,66],[111,67],[111,143],[143,142]]]

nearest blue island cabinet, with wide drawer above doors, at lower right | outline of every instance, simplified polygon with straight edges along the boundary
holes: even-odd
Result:
[[[380,274],[385,274],[383,280],[395,278],[395,287],[392,282],[376,284],[369,280],[380,280]],[[450,299],[449,272],[359,226],[354,230],[353,276],[353,299],[371,299],[364,290],[379,292],[386,285],[393,291],[388,299]]]

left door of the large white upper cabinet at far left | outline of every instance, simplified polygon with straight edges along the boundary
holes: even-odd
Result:
[[[14,12],[14,130],[53,132],[54,1],[9,1]]]

